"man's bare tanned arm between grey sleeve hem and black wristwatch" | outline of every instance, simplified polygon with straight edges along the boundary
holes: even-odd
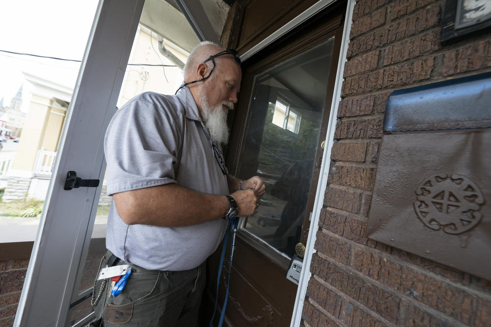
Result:
[[[223,195],[200,193],[166,184],[113,194],[126,224],[164,227],[195,225],[224,216],[229,202]]]

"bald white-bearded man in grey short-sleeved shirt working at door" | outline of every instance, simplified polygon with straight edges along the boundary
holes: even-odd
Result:
[[[129,269],[125,285],[117,276],[96,284],[92,305],[101,325],[93,326],[196,326],[206,259],[227,220],[257,212],[265,193],[258,176],[236,179],[223,159],[241,78],[235,50],[203,42],[176,95],[142,93],[109,123],[112,203],[101,265]]]

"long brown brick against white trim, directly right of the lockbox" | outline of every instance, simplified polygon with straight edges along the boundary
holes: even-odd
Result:
[[[343,270],[322,259],[317,254],[312,256],[311,271],[327,283],[342,290],[360,304],[367,306],[383,318],[395,323],[400,299],[382,290],[378,286]]]

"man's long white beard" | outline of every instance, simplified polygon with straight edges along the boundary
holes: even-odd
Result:
[[[204,94],[202,94],[200,98],[203,123],[208,130],[210,137],[219,144],[227,144],[230,133],[227,125],[228,111],[223,110],[221,104],[218,107],[211,107],[208,104],[208,97]],[[228,108],[232,108],[233,106],[233,103],[228,101],[223,102],[223,104]]]

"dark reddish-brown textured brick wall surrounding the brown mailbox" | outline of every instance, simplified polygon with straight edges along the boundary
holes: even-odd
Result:
[[[365,237],[390,93],[491,71],[489,33],[440,44],[444,5],[355,4],[304,326],[491,326],[490,281]]]

